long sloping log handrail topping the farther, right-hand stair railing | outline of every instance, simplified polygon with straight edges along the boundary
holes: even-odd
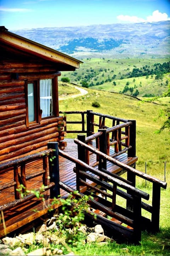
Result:
[[[102,158],[108,160],[109,162],[111,162],[111,163],[113,163],[113,164],[115,164],[115,165],[117,165],[117,166],[119,166],[119,167],[121,167],[121,168],[123,168],[123,169],[125,169],[125,170],[127,170],[127,171],[131,171],[131,172],[133,172],[134,174],[136,174],[137,176],[139,176],[139,177],[141,177],[141,178],[143,178],[143,179],[146,179],[146,180],[148,180],[148,181],[150,181],[150,182],[152,182],[152,183],[157,183],[157,184],[159,184],[160,187],[163,187],[164,189],[166,189],[167,183],[166,183],[165,181],[162,181],[162,180],[159,180],[159,179],[157,179],[157,178],[154,178],[154,177],[151,176],[151,175],[148,175],[148,174],[146,174],[146,173],[142,173],[141,171],[138,171],[138,170],[136,170],[135,168],[130,167],[129,165],[126,165],[126,164],[124,164],[124,163],[121,163],[121,162],[119,162],[118,160],[116,160],[116,159],[114,159],[114,158],[108,156],[107,154],[104,154],[104,153],[102,153],[101,151],[98,151],[97,149],[91,147],[90,145],[87,145],[86,143],[84,143],[84,142],[78,140],[77,138],[74,139],[74,142],[75,142],[76,144],[79,144],[79,145],[81,145],[81,146],[84,146],[86,149],[88,149],[88,150],[91,151],[92,153],[95,153],[96,155],[101,156]]]

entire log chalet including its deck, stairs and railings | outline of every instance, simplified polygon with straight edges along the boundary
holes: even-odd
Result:
[[[96,210],[95,221],[111,236],[138,243],[142,228],[159,230],[160,188],[166,183],[135,169],[136,121],[92,110],[59,110],[58,76],[81,63],[0,27],[0,237],[33,225],[49,207],[58,207],[51,204],[54,197],[75,191],[78,197],[94,195],[88,203]],[[70,121],[69,115],[80,115],[80,121]],[[69,124],[80,129],[69,130]],[[71,132],[78,137],[66,139]],[[136,188],[136,176],[153,183],[151,206],[141,201],[149,194]],[[21,197],[20,192],[42,185],[49,207],[31,192]],[[117,204],[117,195],[127,207]],[[151,219],[142,216],[141,208]]]

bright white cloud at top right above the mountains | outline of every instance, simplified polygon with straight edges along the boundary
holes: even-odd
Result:
[[[161,13],[158,10],[154,11],[151,16],[148,16],[147,19],[143,19],[137,16],[129,16],[129,15],[118,15],[117,19],[119,21],[130,22],[130,23],[138,23],[138,22],[155,22],[155,21],[169,21],[170,18],[164,12]]]

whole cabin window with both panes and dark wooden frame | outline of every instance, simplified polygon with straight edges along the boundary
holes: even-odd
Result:
[[[53,81],[55,81],[55,88]],[[26,93],[28,95],[28,99],[26,99],[27,127],[40,124],[41,118],[47,118],[58,113],[58,103],[56,103],[58,101],[57,88],[57,78],[28,81],[26,85]],[[55,95],[55,100],[53,100],[53,94]]]

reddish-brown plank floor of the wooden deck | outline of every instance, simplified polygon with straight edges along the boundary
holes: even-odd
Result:
[[[78,158],[77,145],[74,143],[72,139],[66,139],[66,141],[67,147],[64,149],[64,152],[68,153],[70,156]],[[95,157],[96,155],[91,155],[90,164],[95,162]],[[123,153],[120,156],[115,157],[115,159],[128,165],[132,165],[137,161],[137,157],[128,158],[126,153]],[[75,164],[73,162],[59,156],[60,180],[63,183],[66,183],[67,185],[72,187],[73,189],[76,189],[76,176],[73,172],[74,167]],[[26,166],[26,174],[29,175],[31,173],[35,173],[35,171],[38,171],[39,169],[40,160],[29,163]],[[107,163],[107,170],[111,171],[112,173],[119,173],[121,171],[120,168],[111,163]],[[13,181],[13,170],[9,170],[5,173],[0,174],[0,186],[6,183],[10,183],[11,181]],[[40,176],[38,176],[27,182],[27,189],[39,189],[41,185],[42,179],[40,180]],[[61,196],[68,196],[68,193],[64,190],[61,190],[60,193]],[[44,196],[46,199],[45,202],[47,206],[49,206],[51,203],[49,195],[49,190],[44,192]],[[5,206],[6,203],[12,201],[15,201],[13,187],[7,188],[0,192],[0,207]],[[54,209],[55,206],[52,206],[52,208]],[[33,223],[37,218],[46,214],[47,211],[48,208],[42,203],[41,199],[37,198],[32,198],[31,200],[20,203],[19,205],[12,207],[10,209],[6,209],[3,211],[1,210],[0,237],[8,233],[11,233],[12,231],[17,230],[21,227],[22,230],[24,230],[25,223]],[[3,222],[3,219],[5,220],[5,223]]]

